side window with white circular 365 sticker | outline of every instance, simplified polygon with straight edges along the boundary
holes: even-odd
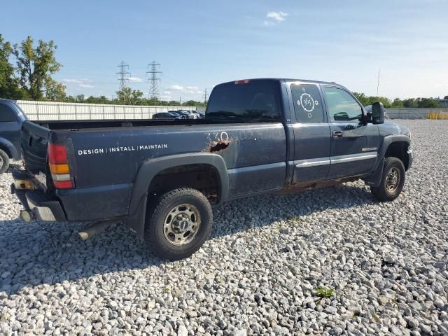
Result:
[[[314,84],[292,84],[295,118],[299,123],[321,123],[323,109],[321,94]]]

